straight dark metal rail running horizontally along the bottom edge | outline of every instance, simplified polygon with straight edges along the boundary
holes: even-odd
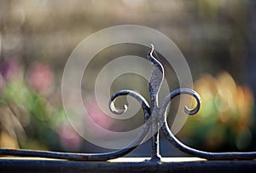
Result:
[[[142,159],[144,160],[144,159]],[[43,159],[0,159],[0,172],[256,172],[253,160],[207,161],[173,158],[163,162],[130,161],[120,162],[76,162]]]

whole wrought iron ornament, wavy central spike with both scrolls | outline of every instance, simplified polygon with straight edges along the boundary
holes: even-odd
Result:
[[[51,159],[69,159],[69,160],[82,160],[82,161],[103,161],[108,159],[116,159],[130,153],[137,146],[139,146],[144,138],[148,135],[148,131],[151,127],[151,141],[152,141],[152,154],[151,161],[160,161],[160,141],[159,141],[159,130],[162,130],[167,140],[172,143],[173,146],[177,147],[184,153],[189,153],[192,156],[200,157],[203,159],[256,159],[256,152],[249,153],[208,153],[201,150],[194,149],[184,145],[181,141],[172,134],[167,122],[166,122],[166,110],[170,101],[177,95],[190,95],[195,98],[196,106],[193,109],[184,107],[184,112],[189,115],[194,115],[199,111],[201,107],[201,98],[192,89],[175,89],[169,95],[166,95],[165,100],[159,105],[158,94],[160,86],[164,79],[164,68],[160,61],[157,60],[154,45],[151,44],[151,49],[148,51],[148,61],[153,65],[151,77],[149,79],[148,89],[150,92],[150,102],[146,101],[142,95],[132,90],[119,90],[110,97],[109,109],[116,114],[124,113],[128,107],[125,105],[122,110],[115,107],[114,102],[117,97],[121,95],[130,95],[135,98],[143,107],[144,112],[144,124],[143,130],[138,134],[137,138],[131,142],[127,147],[117,150],[112,153],[57,153],[57,152],[46,152],[46,151],[35,151],[25,149],[6,149],[0,148],[0,156],[24,156],[24,157],[41,157]]]

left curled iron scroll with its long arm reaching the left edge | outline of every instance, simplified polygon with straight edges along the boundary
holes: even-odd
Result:
[[[108,159],[116,159],[124,156],[127,153],[130,153],[134,150],[140,143],[143,141],[145,136],[148,134],[148,130],[150,128],[150,121],[148,118],[150,117],[150,110],[148,106],[148,102],[143,98],[143,96],[138,95],[136,92],[131,90],[121,90],[116,94],[112,95],[109,107],[111,111],[115,113],[121,113],[120,111],[114,108],[114,100],[119,95],[131,95],[137,101],[142,104],[143,112],[144,112],[144,124],[143,130],[139,133],[137,138],[131,142],[127,147],[111,152],[111,153],[59,153],[59,152],[48,152],[48,151],[37,151],[37,150],[26,150],[26,149],[8,149],[8,148],[0,148],[0,156],[20,156],[20,157],[39,157],[39,158],[49,158],[49,159],[68,159],[68,160],[78,160],[78,161],[105,161]]]

